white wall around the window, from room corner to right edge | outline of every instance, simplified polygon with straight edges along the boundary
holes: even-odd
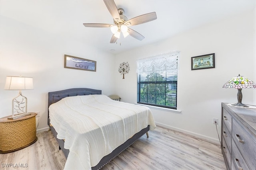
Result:
[[[254,15],[250,11],[116,55],[116,68],[122,62],[130,64],[130,73],[125,79],[115,72],[116,93],[122,101],[136,103],[136,60],[180,51],[178,110],[181,113],[152,108],[155,121],[158,125],[218,142],[212,119],[218,118],[220,133],[221,102],[237,102],[237,90],[224,89],[223,84],[238,74],[256,81],[252,62],[256,57]],[[215,53],[215,68],[191,70],[191,57],[210,53]],[[253,89],[244,89],[242,93],[243,103],[256,105]]]

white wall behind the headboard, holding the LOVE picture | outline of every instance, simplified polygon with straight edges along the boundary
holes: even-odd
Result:
[[[38,130],[48,128],[48,92],[84,87],[113,93],[112,54],[4,16],[0,20],[0,117],[12,114],[12,98],[18,95],[4,90],[6,76],[33,77],[34,90],[22,94],[28,98],[28,112],[40,111]],[[65,54],[96,61],[96,72],[64,68]]]

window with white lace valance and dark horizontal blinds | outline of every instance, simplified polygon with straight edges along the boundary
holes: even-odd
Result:
[[[177,109],[178,53],[137,61],[137,103]]]

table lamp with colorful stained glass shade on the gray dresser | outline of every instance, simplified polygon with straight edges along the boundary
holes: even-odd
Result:
[[[242,104],[242,88],[256,88],[256,84],[244,77],[244,76],[240,76],[240,74],[238,74],[238,76],[235,76],[233,78],[231,78],[231,80],[229,80],[228,82],[226,82],[222,88],[236,88],[238,90],[237,93],[237,100],[238,103],[236,104],[232,104],[233,106],[242,106],[242,107],[248,107],[244,104]]]

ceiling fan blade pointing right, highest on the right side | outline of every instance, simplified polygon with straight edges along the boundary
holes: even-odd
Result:
[[[148,14],[143,14],[141,16],[137,16],[135,18],[132,18],[128,21],[125,22],[125,24],[127,26],[132,26],[132,25],[139,25],[139,24],[142,24],[142,23],[146,23],[146,22],[149,22],[149,21],[153,21],[153,20],[156,20],[156,12],[151,12],[151,13],[148,13]]]

